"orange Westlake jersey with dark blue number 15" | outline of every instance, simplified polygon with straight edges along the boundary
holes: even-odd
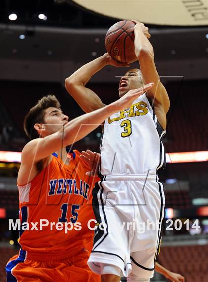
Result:
[[[86,176],[90,168],[73,152],[69,165],[53,156],[30,183],[18,186],[19,243],[25,251],[61,254],[92,241],[87,222],[94,218],[92,188],[99,178]]]

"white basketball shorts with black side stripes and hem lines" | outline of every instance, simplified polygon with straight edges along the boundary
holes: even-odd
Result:
[[[163,185],[155,175],[109,175],[93,189],[93,209],[100,226],[88,265],[100,274],[100,263],[151,278],[159,252],[164,217]],[[104,230],[102,230],[104,229]]]

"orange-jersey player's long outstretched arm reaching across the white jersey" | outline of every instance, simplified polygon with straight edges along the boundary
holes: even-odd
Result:
[[[59,151],[61,148],[77,142],[97,128],[113,113],[130,107],[131,103],[138,96],[142,95],[152,86],[153,84],[149,84],[144,88],[130,90],[122,98],[108,106],[71,120],[58,132],[44,138],[30,141],[22,151],[22,160],[25,162],[31,162],[32,160],[37,162],[50,156],[53,152]]]

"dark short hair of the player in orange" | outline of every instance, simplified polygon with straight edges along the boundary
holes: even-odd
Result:
[[[38,132],[34,128],[36,123],[44,123],[45,109],[55,107],[60,109],[60,102],[54,95],[44,96],[33,106],[24,118],[24,131],[30,139],[38,138]]]

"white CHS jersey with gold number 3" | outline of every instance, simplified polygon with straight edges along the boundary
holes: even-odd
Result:
[[[144,93],[130,108],[104,123],[101,142],[102,177],[112,174],[154,174],[165,166],[161,137],[165,134]]]

